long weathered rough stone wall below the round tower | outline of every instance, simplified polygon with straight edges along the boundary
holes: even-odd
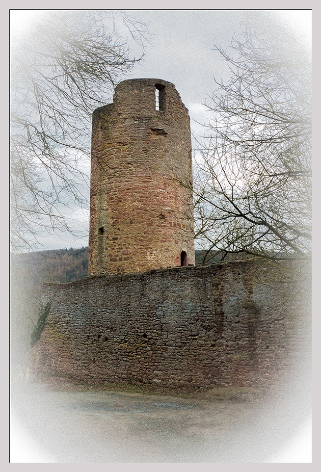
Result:
[[[285,292],[264,283],[251,261],[46,283],[42,306],[52,303],[31,375],[168,387],[274,385],[309,359],[302,300],[291,302],[297,317],[284,316]]]

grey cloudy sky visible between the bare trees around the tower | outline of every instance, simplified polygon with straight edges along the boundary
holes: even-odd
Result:
[[[271,11],[287,24],[294,34],[307,45],[311,43],[311,11]],[[11,11],[12,27],[27,29],[34,17],[42,11]],[[198,135],[202,129],[198,122],[206,122],[204,103],[215,90],[213,77],[220,80],[227,76],[226,64],[215,45],[227,47],[233,36],[240,34],[240,22],[248,11],[243,10],[130,10],[130,16],[148,24],[150,42],[145,48],[144,61],[138,64],[125,78],[155,77],[175,84],[183,103],[189,109],[192,133]],[[255,12],[252,12],[255,15]],[[134,54],[141,50],[130,41]],[[106,102],[110,102],[106,98]],[[84,168],[89,174],[90,163]],[[88,193],[89,196],[89,193]],[[74,238],[63,235],[46,235],[40,239],[39,250],[77,248],[88,246],[89,211],[81,208],[66,209],[66,216],[81,228],[83,236]]]

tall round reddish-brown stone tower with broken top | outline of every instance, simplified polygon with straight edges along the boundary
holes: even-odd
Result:
[[[175,86],[121,82],[93,113],[89,275],[195,264],[190,117]]]

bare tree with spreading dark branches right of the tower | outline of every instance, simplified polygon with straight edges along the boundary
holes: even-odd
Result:
[[[311,253],[311,60],[256,12],[227,50],[230,78],[207,104],[194,172],[196,238],[219,252],[272,259]],[[205,257],[206,259],[206,257]]]

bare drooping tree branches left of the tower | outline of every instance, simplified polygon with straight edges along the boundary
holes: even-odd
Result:
[[[127,31],[142,48],[131,57]],[[11,248],[68,230],[66,205],[86,204],[82,161],[91,114],[143,56],[146,27],[121,11],[48,11],[11,38]],[[124,37],[124,33],[122,34]]]

